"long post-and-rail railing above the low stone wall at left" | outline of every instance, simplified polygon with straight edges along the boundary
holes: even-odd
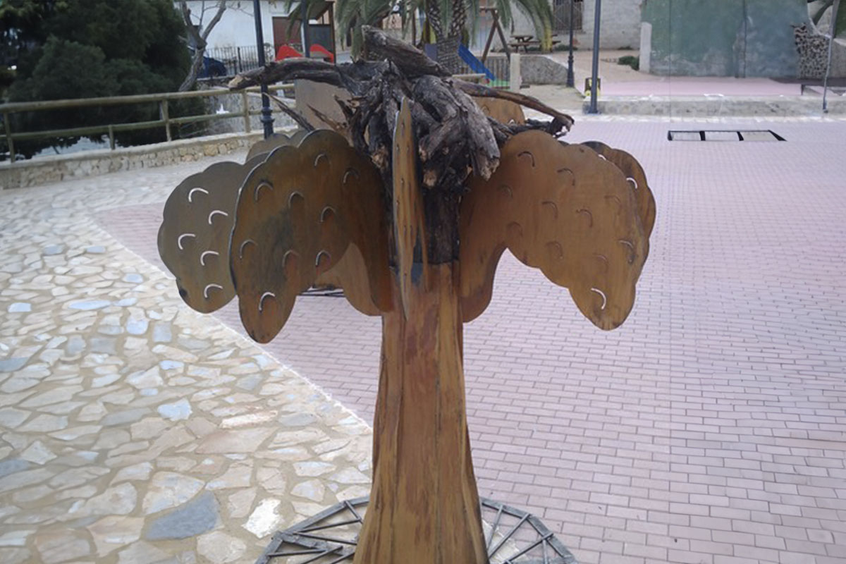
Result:
[[[293,84],[272,85],[269,90],[293,91]],[[211,96],[241,96],[241,108],[238,112],[204,113],[193,116],[171,118],[168,115],[168,101],[182,100],[185,98],[205,98]],[[33,139],[57,138],[57,137],[81,137],[84,135],[107,134],[109,147],[115,148],[115,134],[124,131],[135,131],[139,129],[164,128],[165,137],[168,141],[173,140],[171,127],[184,123],[211,122],[218,119],[244,119],[244,131],[250,133],[250,117],[261,114],[261,110],[250,110],[249,96],[261,96],[258,88],[249,88],[232,92],[227,89],[193,90],[190,92],[162,92],[161,94],[141,94],[137,96],[108,96],[103,98],[78,98],[69,100],[48,100],[48,101],[23,101],[0,104],[0,116],[3,117],[3,138],[8,147],[9,160],[15,161],[14,142]],[[91,125],[86,127],[69,129],[47,129],[41,131],[13,132],[10,117],[19,112],[45,112],[51,110],[68,110],[78,107],[103,107],[120,106],[126,104],[157,103],[159,107],[159,119],[146,122],[134,123],[108,123]]]

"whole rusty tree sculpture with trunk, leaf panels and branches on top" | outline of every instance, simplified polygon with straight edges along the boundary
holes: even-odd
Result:
[[[273,138],[244,165],[186,178],[165,206],[159,249],[191,307],[237,294],[259,342],[312,285],[342,287],[354,308],[381,315],[373,485],[354,561],[482,564],[462,324],[486,308],[509,249],[568,287],[596,326],[620,325],[655,203],[629,154],[560,142],[568,116],[453,79],[380,31],[366,29],[365,43],[370,60],[289,60],[235,79],[343,86],[348,120],[341,133]],[[552,122],[523,120],[513,104],[503,114],[503,96]]]

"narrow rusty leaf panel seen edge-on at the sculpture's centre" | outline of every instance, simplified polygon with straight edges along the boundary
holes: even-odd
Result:
[[[409,315],[411,288],[426,285],[426,229],[417,174],[417,147],[409,99],[403,98],[393,129],[393,238],[397,245],[399,293]]]

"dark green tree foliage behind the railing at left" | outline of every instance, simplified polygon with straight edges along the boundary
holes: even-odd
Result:
[[[37,4],[49,9],[37,8]],[[0,4],[4,21],[20,27],[10,36],[19,42],[17,71],[8,101],[124,96],[177,90],[190,67],[185,26],[172,0],[12,0]],[[179,101],[171,116],[196,113],[197,102]],[[13,130],[67,129],[106,123],[154,121],[156,103],[84,107],[61,112],[25,112],[13,116]],[[178,132],[174,132],[178,133]],[[102,135],[92,135],[102,140]],[[121,145],[165,140],[163,129],[116,134]],[[31,156],[50,145],[72,145],[78,138],[15,144]]]

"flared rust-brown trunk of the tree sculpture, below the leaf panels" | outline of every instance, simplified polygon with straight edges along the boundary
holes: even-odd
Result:
[[[464,402],[457,263],[382,316],[373,487],[355,564],[486,564]]]

